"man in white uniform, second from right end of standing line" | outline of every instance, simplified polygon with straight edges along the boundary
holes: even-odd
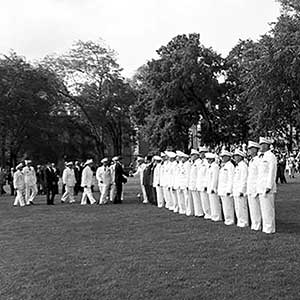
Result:
[[[248,166],[248,179],[247,179],[247,196],[248,205],[251,219],[251,229],[261,230],[261,211],[259,204],[259,195],[257,192],[258,182],[258,150],[260,146],[258,143],[248,142],[248,153],[251,156]]]

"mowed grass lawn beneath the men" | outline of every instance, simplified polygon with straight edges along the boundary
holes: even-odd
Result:
[[[143,205],[137,189],[107,206],[1,197],[0,299],[300,299],[299,178],[279,185],[274,235]]]

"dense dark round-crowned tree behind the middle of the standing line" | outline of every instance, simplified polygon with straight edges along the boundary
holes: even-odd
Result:
[[[199,34],[179,35],[157,53],[159,58],[135,77],[135,120],[153,150],[187,150],[192,125],[201,121],[204,132],[214,132],[212,112],[221,94],[223,60],[200,43]]]

